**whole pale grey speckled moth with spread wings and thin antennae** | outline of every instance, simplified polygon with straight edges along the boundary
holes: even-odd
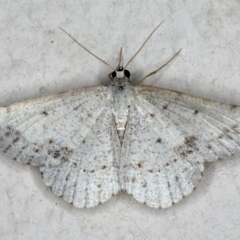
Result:
[[[167,208],[196,188],[205,163],[239,151],[240,107],[133,86],[126,68],[133,58],[123,67],[121,55],[108,87],[1,107],[0,149],[39,167],[52,192],[75,207],[126,191],[149,207]]]

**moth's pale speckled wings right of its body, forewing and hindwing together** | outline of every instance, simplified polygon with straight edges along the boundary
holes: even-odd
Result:
[[[138,86],[124,136],[121,187],[150,207],[166,208],[197,186],[204,163],[240,149],[240,108]]]

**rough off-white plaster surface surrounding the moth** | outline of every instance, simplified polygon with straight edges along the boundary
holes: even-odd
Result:
[[[132,81],[181,55],[146,83],[240,104],[240,2],[0,2],[0,104],[108,84],[111,71],[58,26],[111,65],[124,61],[165,20],[129,65]],[[0,153],[1,239],[240,239],[240,157],[206,166],[197,190],[165,210],[124,193],[76,209],[44,185],[37,169]]]

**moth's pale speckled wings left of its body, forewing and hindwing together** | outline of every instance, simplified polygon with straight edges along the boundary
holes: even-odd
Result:
[[[119,191],[120,144],[106,87],[0,108],[0,149],[40,167],[53,193],[93,207]]]

